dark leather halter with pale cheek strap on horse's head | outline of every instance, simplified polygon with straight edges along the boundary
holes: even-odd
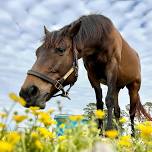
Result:
[[[48,76],[46,76],[46,75],[44,75],[44,74],[42,74],[40,72],[34,71],[34,70],[28,70],[27,74],[28,75],[36,76],[36,77],[38,77],[38,78],[40,78],[40,79],[42,79],[42,80],[44,80],[46,82],[49,82],[56,89],[58,89],[59,91],[62,91],[61,94],[56,94],[56,95],[54,95],[52,97],[62,96],[62,97],[66,97],[66,98],[70,99],[69,96],[68,96],[68,93],[69,93],[71,87],[74,85],[74,83],[76,81],[73,82],[73,83],[71,83],[70,87],[66,91],[64,90],[63,83],[73,72],[75,72],[75,78],[76,78],[76,80],[77,80],[77,77],[78,77],[78,55],[77,55],[76,48],[74,48],[73,52],[74,52],[73,53],[73,57],[74,57],[73,65],[70,68],[70,70],[59,80],[53,80],[53,79],[49,78]]]

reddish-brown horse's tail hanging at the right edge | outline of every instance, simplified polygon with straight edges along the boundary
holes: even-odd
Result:
[[[138,104],[137,104],[137,109],[138,113],[141,115],[143,114],[145,116],[146,119],[152,121],[152,117],[150,116],[149,113],[147,113],[147,111],[145,110],[144,106],[141,104],[141,101],[139,99]]]

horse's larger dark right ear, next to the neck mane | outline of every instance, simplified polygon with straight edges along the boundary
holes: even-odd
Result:
[[[70,37],[74,37],[79,32],[80,27],[81,27],[80,20],[72,23],[68,29],[68,35]]]

